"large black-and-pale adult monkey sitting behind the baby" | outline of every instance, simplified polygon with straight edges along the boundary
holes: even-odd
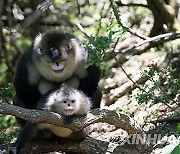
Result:
[[[65,82],[92,99],[92,108],[100,107],[101,72],[95,65],[84,67],[90,54],[72,34],[50,31],[38,35],[18,61],[13,81],[14,105],[34,109],[43,94]],[[26,122],[17,120],[21,126]]]

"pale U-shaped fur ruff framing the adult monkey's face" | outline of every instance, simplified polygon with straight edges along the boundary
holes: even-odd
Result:
[[[37,49],[41,47],[41,39],[43,36],[42,35],[40,35],[40,36],[38,36],[34,42],[34,51],[35,52],[37,52]],[[72,74],[76,71],[76,68],[78,67],[78,65],[80,63],[81,63],[81,65],[84,65],[84,64],[82,64],[82,62],[85,57],[83,56],[84,54],[82,54],[81,47],[79,46],[78,41],[73,38],[73,39],[71,39],[70,43],[72,45],[73,53],[69,54],[67,61],[61,62],[65,66],[65,69],[62,71],[62,73],[52,72],[51,67],[53,64],[50,64],[50,65],[47,64],[43,58],[38,57],[38,55],[37,55],[38,53],[34,53],[33,60],[34,60],[35,66],[38,69],[38,71],[40,72],[40,74],[45,79],[51,80],[51,81],[56,81],[56,82],[64,81],[72,76]],[[46,67],[44,67],[44,66],[46,66]],[[79,67],[78,67],[78,69],[79,69]],[[85,72],[85,69],[83,66],[81,76],[84,77],[85,75],[86,75],[86,72]]]

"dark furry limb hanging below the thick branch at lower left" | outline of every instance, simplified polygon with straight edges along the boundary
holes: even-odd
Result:
[[[30,141],[37,133],[37,124],[27,122],[25,126],[22,128],[17,141],[16,147],[10,150],[10,154],[19,154],[22,147]]]

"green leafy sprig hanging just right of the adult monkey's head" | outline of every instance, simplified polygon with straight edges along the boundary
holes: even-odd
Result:
[[[86,46],[92,49],[92,55],[86,67],[95,64],[104,72],[110,71],[110,66],[107,62],[107,55],[113,54],[112,41],[121,37],[125,32],[125,29],[117,28],[114,29],[114,21],[111,21],[110,25],[107,28],[107,36],[90,36],[85,43]]]

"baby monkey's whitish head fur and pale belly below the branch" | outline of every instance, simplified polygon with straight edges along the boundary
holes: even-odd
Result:
[[[66,101],[64,103],[64,101]],[[73,101],[73,102],[72,102]],[[86,115],[91,109],[91,100],[81,91],[70,88],[65,84],[60,90],[50,94],[44,106],[45,110],[68,115]],[[39,129],[48,128],[56,136],[68,137],[73,131],[68,128],[51,124],[39,124]]]

